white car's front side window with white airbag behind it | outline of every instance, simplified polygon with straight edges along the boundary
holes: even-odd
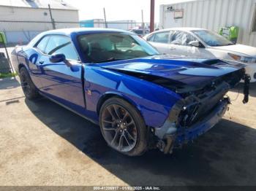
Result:
[[[184,31],[172,31],[170,34],[170,44],[189,46],[189,42],[197,41],[195,36]]]

